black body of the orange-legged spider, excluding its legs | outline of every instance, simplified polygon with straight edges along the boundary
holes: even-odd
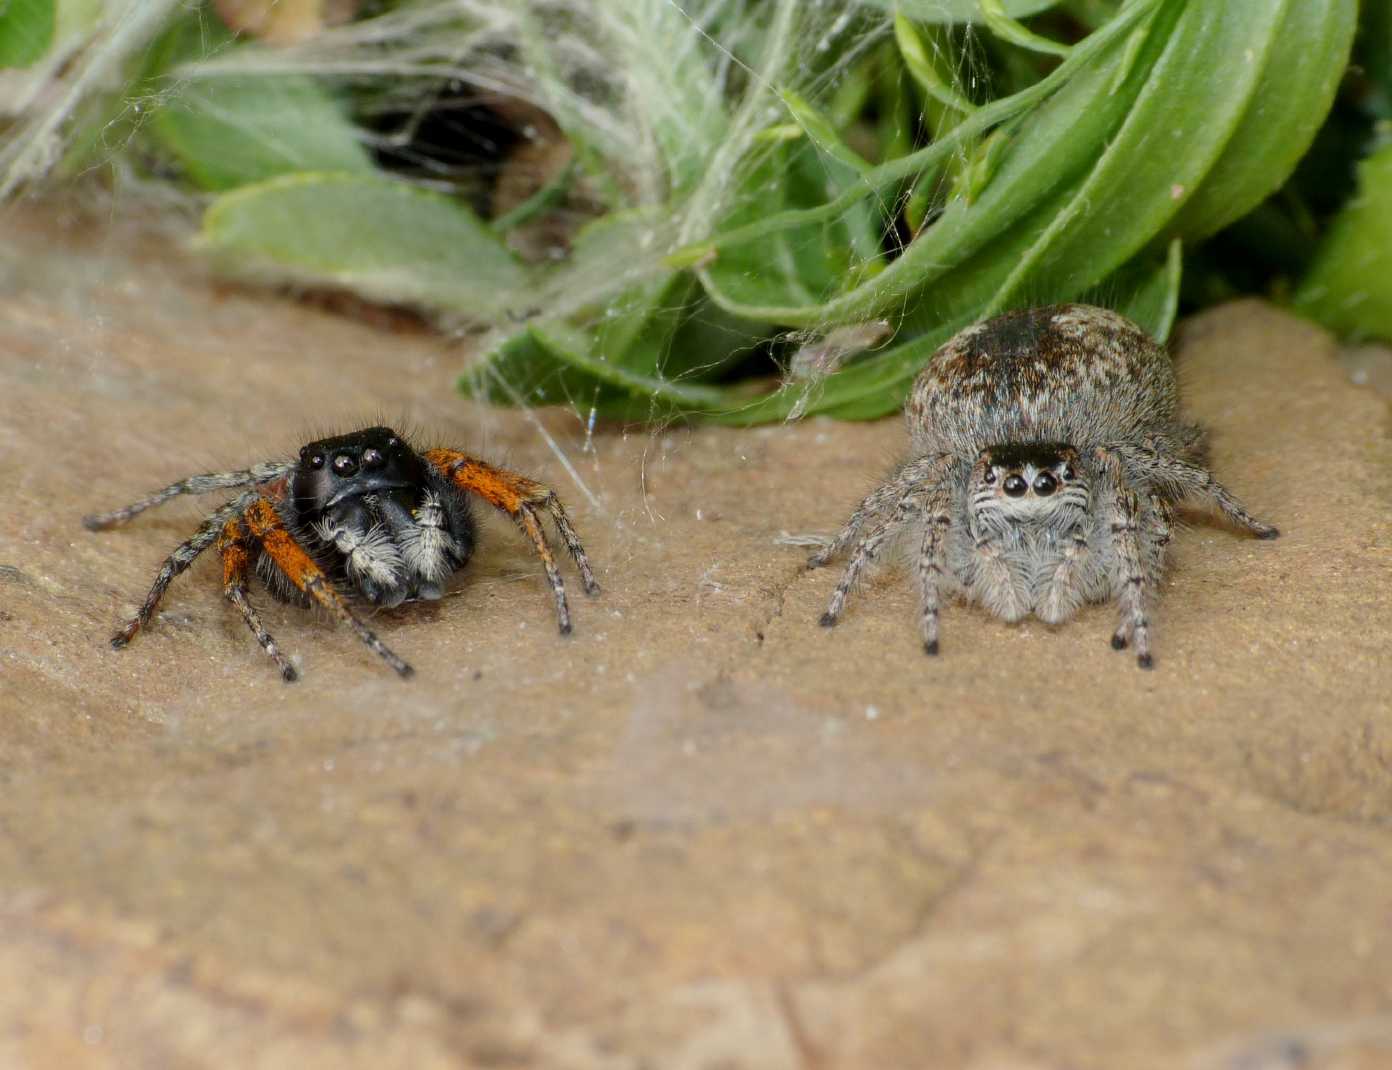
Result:
[[[322,566],[374,605],[438,598],[473,552],[466,494],[390,427],[302,448],[280,512]],[[306,600],[266,555],[258,570],[277,594]]]

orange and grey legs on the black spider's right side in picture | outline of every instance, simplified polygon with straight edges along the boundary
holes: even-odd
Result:
[[[486,502],[511,516],[526,537],[532,540],[532,545],[537,557],[541,558],[541,565],[546,568],[546,576],[551,583],[551,593],[555,596],[555,615],[561,634],[568,634],[571,630],[571,609],[565,601],[565,582],[561,579],[560,569],[555,568],[555,558],[551,554],[550,544],[546,541],[546,532],[541,530],[539,509],[546,509],[551,515],[551,520],[561,533],[567,550],[575,558],[575,566],[580,570],[580,582],[585,584],[585,590],[593,594],[599,590],[599,583],[594,582],[594,573],[590,569],[589,558],[585,555],[585,547],[580,545],[579,536],[575,534],[571,518],[567,516],[565,506],[561,505],[561,500],[555,495],[555,491],[526,476],[519,476],[516,472],[494,468],[457,449],[427,449],[425,459],[459,490],[477,494]]]

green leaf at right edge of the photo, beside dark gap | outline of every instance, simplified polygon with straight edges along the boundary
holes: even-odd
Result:
[[[1392,145],[1359,164],[1359,193],[1329,227],[1295,308],[1340,334],[1392,341]]]

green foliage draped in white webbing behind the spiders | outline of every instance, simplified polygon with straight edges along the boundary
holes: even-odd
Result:
[[[1389,65],[1381,0],[0,0],[0,195],[192,191],[494,402],[869,419],[1029,303],[1392,337]]]

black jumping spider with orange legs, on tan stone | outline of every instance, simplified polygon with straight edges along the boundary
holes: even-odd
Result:
[[[253,569],[277,598],[322,605],[391,668],[409,676],[411,666],[354,614],[341,590],[379,607],[438,598],[450,575],[464,568],[473,552],[470,494],[508,513],[532,541],[555,596],[562,634],[571,630],[571,612],[541,529],[543,512],[575,558],[586,593],[599,590],[585,548],[554,491],[457,449],[416,452],[390,427],[310,442],[294,462],[270,461],[241,472],[189,476],[124,509],[88,516],[84,523],[100,532],[180,494],[234,488],[245,490],[166,559],[145,604],[113,636],[111,646],[129,643],[149,623],[170,582],[216,545],[223,558],[223,593],[285,680],[296,678],[295,668],[248,600]]]

